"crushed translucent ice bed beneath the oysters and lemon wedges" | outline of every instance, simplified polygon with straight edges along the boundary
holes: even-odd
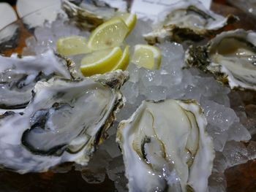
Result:
[[[148,23],[138,20],[135,29],[127,38],[127,44],[130,47],[146,44],[142,34],[151,31],[148,26],[150,26]],[[51,24],[45,23],[45,26],[35,29],[35,37],[26,39],[27,47],[23,49],[23,55],[37,55],[48,48],[54,49],[59,37],[67,37],[71,34],[89,37],[89,33],[65,23],[63,17],[59,17]],[[236,91],[231,93],[230,88],[219,84],[210,74],[204,74],[197,69],[182,69],[184,67],[182,45],[165,42],[157,46],[162,50],[161,69],[151,71],[129,64],[127,71],[130,78],[121,88],[127,103],[118,112],[116,122],[108,131],[108,139],[98,147],[89,166],[86,168],[77,166],[77,169],[83,170],[82,177],[88,183],[102,183],[107,174],[108,178],[114,181],[118,191],[127,191],[123,159],[116,144],[118,122],[129,118],[144,99],[195,99],[205,111],[208,120],[207,131],[213,137],[217,151],[214,170],[209,178],[209,191],[225,191],[225,169],[256,157],[256,142],[249,142],[247,147],[240,142],[248,141],[251,134],[255,134],[255,120],[247,118],[244,104],[252,94]],[[230,99],[233,101],[230,102]],[[230,108],[230,103],[236,111]],[[251,113],[253,112],[255,110]],[[240,123],[239,118],[246,128]]]

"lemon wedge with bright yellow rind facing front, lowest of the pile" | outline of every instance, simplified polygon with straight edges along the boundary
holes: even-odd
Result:
[[[80,70],[85,76],[110,72],[121,60],[121,56],[120,47],[94,51],[82,59]]]

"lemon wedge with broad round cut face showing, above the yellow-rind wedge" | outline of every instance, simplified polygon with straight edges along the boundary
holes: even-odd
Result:
[[[92,50],[117,47],[124,41],[128,32],[129,28],[121,18],[113,18],[94,29],[88,46]]]

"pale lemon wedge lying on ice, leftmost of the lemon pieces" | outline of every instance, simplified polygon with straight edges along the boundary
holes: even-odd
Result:
[[[70,36],[58,39],[56,51],[61,55],[78,55],[89,53],[91,50],[86,44],[86,38],[80,36]]]

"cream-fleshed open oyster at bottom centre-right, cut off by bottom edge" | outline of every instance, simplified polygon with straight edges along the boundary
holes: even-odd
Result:
[[[195,101],[143,101],[118,126],[129,191],[205,192],[214,160]]]

